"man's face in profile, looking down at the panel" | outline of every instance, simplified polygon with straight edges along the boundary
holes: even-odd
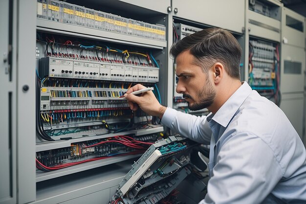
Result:
[[[192,111],[211,106],[216,97],[216,90],[207,74],[201,67],[193,63],[194,56],[184,51],[176,57],[176,76],[178,83],[176,92],[183,93]]]

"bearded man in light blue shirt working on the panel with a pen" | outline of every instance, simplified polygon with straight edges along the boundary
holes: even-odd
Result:
[[[306,151],[285,114],[240,82],[241,47],[233,35],[209,28],[172,46],[183,93],[197,117],[158,103],[135,85],[125,94],[131,110],[141,108],[182,136],[210,142],[207,195],[200,204],[306,203]]]

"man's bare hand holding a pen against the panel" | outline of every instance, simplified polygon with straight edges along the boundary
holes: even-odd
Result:
[[[131,87],[126,92],[126,94],[124,94],[124,97],[128,100],[129,106],[132,111],[136,111],[139,107],[141,110],[143,110],[149,115],[158,116],[159,118],[162,118],[167,108],[159,104],[152,91],[144,92],[141,94],[141,96],[130,94],[133,91],[138,91],[146,88],[147,87],[141,84],[137,84]]]

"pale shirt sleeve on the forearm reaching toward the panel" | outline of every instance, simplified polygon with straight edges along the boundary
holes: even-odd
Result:
[[[208,125],[207,116],[195,116],[168,107],[161,122],[181,136],[202,144],[210,143],[212,131]]]

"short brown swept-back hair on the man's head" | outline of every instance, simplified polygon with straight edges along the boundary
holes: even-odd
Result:
[[[170,54],[177,57],[189,50],[196,58],[195,63],[207,72],[207,66],[221,61],[232,78],[240,79],[241,46],[227,30],[207,28],[189,35],[172,45]],[[205,65],[205,68],[203,67]]]

